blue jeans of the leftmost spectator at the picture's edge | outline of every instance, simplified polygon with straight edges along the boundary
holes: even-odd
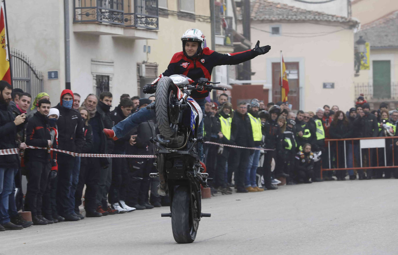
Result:
[[[18,169],[0,168],[0,224],[10,222],[8,215],[8,200],[14,187],[14,176]]]

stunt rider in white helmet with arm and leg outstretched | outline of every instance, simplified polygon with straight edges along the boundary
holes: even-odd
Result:
[[[271,46],[259,46],[257,41],[256,46],[251,50],[243,52],[235,52],[228,54],[221,54],[210,50],[208,47],[204,48],[205,36],[199,29],[188,29],[181,37],[182,51],[174,54],[168,68],[164,73],[156,78],[152,85],[146,85],[143,89],[144,93],[152,94],[156,92],[156,83],[161,77],[170,76],[173,74],[183,74],[193,81],[199,81],[199,78],[211,79],[211,72],[215,66],[221,65],[236,65],[247,60],[251,60],[258,55],[267,53]],[[192,91],[191,97],[196,100],[199,106],[202,108],[202,112],[205,110],[206,97],[209,95],[209,91]],[[152,103],[154,104],[154,103]],[[150,105],[152,105],[150,104]],[[105,135],[114,140],[124,137],[134,127],[137,127],[140,123],[156,118],[154,110],[147,108],[141,108],[135,114],[127,117],[125,120],[119,122],[112,129],[103,129]],[[203,136],[203,121],[199,124],[198,136]],[[200,159],[203,160],[203,147],[199,148]]]

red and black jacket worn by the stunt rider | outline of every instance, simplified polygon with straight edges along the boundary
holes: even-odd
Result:
[[[254,50],[246,50],[242,52],[221,54],[210,50],[208,47],[203,49],[203,52],[197,58],[188,58],[184,53],[177,52],[174,54],[167,70],[162,73],[160,77],[170,76],[173,74],[183,74],[194,81],[198,81],[199,78],[211,79],[211,72],[215,66],[222,65],[237,65],[247,60],[258,56]],[[156,79],[155,81],[157,81]],[[193,99],[205,98],[209,95],[209,91],[204,90],[201,92],[192,91],[191,97]]]

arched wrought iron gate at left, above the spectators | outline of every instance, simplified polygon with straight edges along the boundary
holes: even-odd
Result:
[[[43,74],[37,71],[32,61],[19,50],[11,49],[11,71],[14,88],[29,93],[32,99],[43,92]]]

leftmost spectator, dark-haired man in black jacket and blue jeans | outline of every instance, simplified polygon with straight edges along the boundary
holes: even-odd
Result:
[[[25,122],[25,114],[16,118],[8,110],[11,101],[12,87],[7,81],[0,81],[0,150],[17,147],[15,137]],[[8,206],[10,194],[14,186],[14,176],[20,167],[16,154],[0,155],[0,231],[19,230],[23,226],[10,221]],[[12,197],[14,199],[14,197]]]

